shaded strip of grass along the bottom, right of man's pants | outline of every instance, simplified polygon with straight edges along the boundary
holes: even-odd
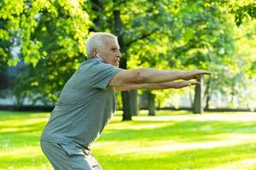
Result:
[[[131,155],[106,156],[96,154],[106,169],[206,169],[221,167],[235,161],[255,158],[256,145],[237,144],[213,149],[196,149],[176,152],[163,152],[150,155],[133,153]],[[130,165],[130,167],[129,167]],[[132,166],[131,166],[132,165]],[[256,166],[255,166],[256,167]],[[223,169],[223,168],[222,168]]]

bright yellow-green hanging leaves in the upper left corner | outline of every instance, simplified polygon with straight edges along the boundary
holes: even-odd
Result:
[[[71,57],[72,48],[85,54],[84,40],[90,20],[81,3],[84,1],[3,1],[0,18],[7,26],[1,33],[5,34],[4,40],[13,37],[20,42],[20,58],[33,66],[42,56],[49,57],[44,49],[49,45],[45,44],[46,37],[55,44],[55,48],[64,48]]]

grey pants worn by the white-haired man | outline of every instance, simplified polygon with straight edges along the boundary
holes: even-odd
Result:
[[[90,150],[78,144],[41,141],[41,148],[55,170],[102,170]]]

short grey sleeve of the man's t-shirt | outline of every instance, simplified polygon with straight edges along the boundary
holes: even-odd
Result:
[[[90,86],[93,88],[108,88],[109,82],[121,69],[106,63],[97,63],[90,69]]]

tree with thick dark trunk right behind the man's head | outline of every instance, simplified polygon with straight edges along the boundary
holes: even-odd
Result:
[[[112,31],[119,37],[119,44],[124,57],[121,59],[120,67],[127,67],[127,61],[131,59],[132,48],[140,48],[140,44],[150,43],[154,40],[153,35],[159,32],[159,24],[163,21],[166,10],[164,7],[168,5],[168,1],[91,1],[92,3],[92,20],[95,21],[95,31]],[[160,9],[160,10],[159,10]],[[104,16],[102,16],[104,14]],[[166,17],[166,16],[165,16]],[[145,24],[145,22],[147,24]],[[99,24],[100,23],[100,24]],[[163,23],[164,24],[164,23]],[[168,24],[168,23],[165,23]],[[164,30],[164,29],[162,29]],[[151,37],[151,41],[148,41]],[[158,40],[159,41],[159,40]],[[154,42],[152,42],[154,43]],[[151,49],[154,52],[154,48]],[[131,106],[137,104],[131,100],[130,92],[122,93],[123,99],[123,120],[131,120]]]

